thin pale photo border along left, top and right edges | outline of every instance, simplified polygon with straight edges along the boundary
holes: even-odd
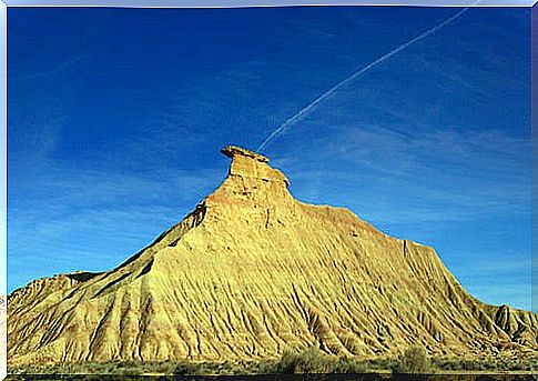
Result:
[[[529,7],[531,8],[531,124],[532,124],[532,264],[531,264],[531,310],[538,313],[538,240],[535,229],[538,219],[534,211],[538,208],[538,87],[535,84],[534,68],[538,67],[538,0],[0,0],[0,380],[7,377],[7,212],[8,212],[8,9],[11,7],[102,7],[102,8],[270,8],[270,7],[329,7],[329,6],[408,6],[408,7]],[[535,42],[537,41],[537,42]],[[536,228],[535,228],[536,227]],[[536,250],[535,250],[536,249]]]

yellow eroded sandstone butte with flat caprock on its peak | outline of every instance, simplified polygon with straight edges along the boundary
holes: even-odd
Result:
[[[478,301],[429,247],[297,201],[267,158],[222,152],[225,181],[148,248],[10,294],[8,363],[536,354],[537,314]]]

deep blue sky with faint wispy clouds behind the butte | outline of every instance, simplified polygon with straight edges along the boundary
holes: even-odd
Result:
[[[115,267],[331,87],[454,8],[8,10],[8,291]],[[470,9],[263,153],[307,202],[530,309],[530,10]]]

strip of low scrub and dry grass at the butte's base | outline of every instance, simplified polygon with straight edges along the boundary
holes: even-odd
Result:
[[[526,361],[464,361],[430,359],[422,347],[412,347],[395,359],[359,360],[342,358],[311,348],[303,352],[286,351],[273,361],[244,362],[83,362],[48,367],[8,368],[12,380],[23,374],[116,374],[116,375],[236,375],[236,374],[305,374],[305,373],[392,373],[435,374],[450,372],[516,372],[538,369],[538,358]]]

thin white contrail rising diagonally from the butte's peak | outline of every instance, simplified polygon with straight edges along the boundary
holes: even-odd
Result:
[[[476,6],[479,1],[480,0],[475,1],[473,3],[473,6]],[[396,49],[389,51],[388,53],[386,53],[386,54],[384,54],[382,57],[379,57],[374,62],[368,63],[364,68],[357,70],[356,72],[354,72],[353,74],[351,74],[349,77],[347,77],[346,79],[344,79],[341,82],[336,83],[334,87],[332,87],[331,89],[328,89],[327,91],[325,91],[323,94],[321,94],[319,97],[317,97],[316,99],[314,99],[304,109],[302,109],[301,111],[298,111],[297,113],[295,113],[293,117],[291,117],[290,119],[287,119],[284,123],[282,123],[278,128],[276,128],[267,138],[265,138],[265,140],[262,142],[262,144],[260,144],[260,147],[257,148],[257,151],[260,152],[261,150],[263,150],[273,139],[275,139],[276,137],[278,137],[280,134],[282,134],[290,126],[294,124],[295,122],[300,121],[302,118],[304,118],[305,116],[307,116],[317,104],[319,104],[325,99],[327,99],[328,97],[331,97],[341,87],[343,87],[344,84],[353,81],[358,76],[364,74],[369,69],[376,67],[377,64],[382,63],[386,59],[388,59],[388,58],[393,57],[394,54],[396,54],[397,52],[404,50],[408,46],[410,46],[410,44],[413,44],[413,43],[415,43],[415,42],[417,42],[417,41],[419,41],[419,40],[428,37],[432,33],[435,33],[437,30],[441,29],[446,24],[453,22],[458,17],[460,17],[461,14],[464,14],[467,10],[468,10],[468,8],[464,8],[461,10],[459,10],[454,16],[449,17],[448,19],[446,19],[441,23],[437,24],[436,27],[433,27],[433,28],[426,30],[425,32],[423,32],[422,34],[418,34],[414,39],[412,39],[412,40],[409,40],[409,41],[400,44]]]

